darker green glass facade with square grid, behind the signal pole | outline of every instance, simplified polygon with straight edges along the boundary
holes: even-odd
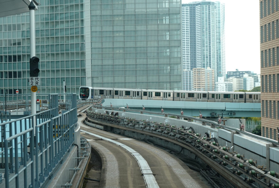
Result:
[[[85,84],[83,0],[40,1],[35,11],[40,93],[78,93]],[[29,13],[0,18],[0,94],[30,93]]]

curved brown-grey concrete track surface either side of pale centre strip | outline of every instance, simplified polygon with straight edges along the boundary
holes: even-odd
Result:
[[[147,161],[161,188],[209,187],[197,172],[190,170],[180,159],[150,144],[126,138],[81,124],[81,129],[113,139],[137,151]],[[137,160],[118,145],[82,134],[91,147],[99,152],[102,163],[100,187],[146,187]]]

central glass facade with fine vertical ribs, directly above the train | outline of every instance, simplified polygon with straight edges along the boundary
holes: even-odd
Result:
[[[87,86],[181,90],[180,0],[87,5]]]

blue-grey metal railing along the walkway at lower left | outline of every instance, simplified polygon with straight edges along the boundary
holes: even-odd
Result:
[[[48,110],[0,124],[6,188],[43,187],[52,179],[74,142],[77,123],[76,94],[65,95],[67,108],[62,114],[58,94],[49,94]]]

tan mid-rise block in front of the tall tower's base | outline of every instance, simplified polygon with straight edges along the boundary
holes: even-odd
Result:
[[[210,69],[193,69],[193,91],[215,91],[215,71]]]

